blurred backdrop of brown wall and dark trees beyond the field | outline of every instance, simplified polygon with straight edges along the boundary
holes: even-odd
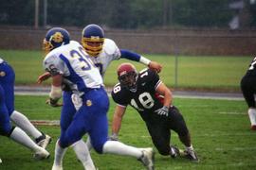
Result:
[[[40,49],[51,26],[79,40],[92,23],[142,53],[256,53],[255,0],[1,0],[0,48]]]

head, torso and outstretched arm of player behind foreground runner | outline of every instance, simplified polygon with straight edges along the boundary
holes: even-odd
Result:
[[[159,63],[146,59],[135,52],[119,49],[116,42],[105,38],[103,29],[98,25],[92,24],[82,29],[82,46],[90,56],[90,59],[92,59],[94,64],[99,68],[101,76],[104,76],[110,63],[118,59],[129,59],[140,62],[147,65],[150,69],[155,70],[157,73],[160,72],[162,68]],[[87,140],[87,145],[90,148],[89,140]]]

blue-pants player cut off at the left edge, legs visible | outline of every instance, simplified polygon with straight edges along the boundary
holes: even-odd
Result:
[[[14,110],[14,81],[13,69],[7,61],[0,58],[0,135],[33,150],[36,159],[46,159],[49,157],[46,145],[50,142],[50,137],[34,127],[25,115]],[[17,127],[12,126],[10,121]],[[25,131],[35,138],[37,144]]]

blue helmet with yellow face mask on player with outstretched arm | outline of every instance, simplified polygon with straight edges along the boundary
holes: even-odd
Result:
[[[101,26],[88,25],[82,29],[82,46],[92,57],[101,53],[104,42],[104,31]]]

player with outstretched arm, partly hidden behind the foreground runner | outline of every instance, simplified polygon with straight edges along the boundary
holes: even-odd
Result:
[[[82,46],[85,49],[86,53],[89,55],[90,59],[92,59],[94,64],[99,68],[101,76],[104,76],[109,64],[113,60],[117,59],[135,60],[144,65],[147,65],[149,68],[155,70],[156,72],[160,72],[162,68],[159,63],[150,59],[146,59],[143,56],[138,55],[137,53],[125,49],[119,49],[116,42],[104,37],[104,31],[101,26],[98,25],[88,25],[82,29]],[[46,72],[46,74],[42,76],[39,76],[38,83],[42,83],[49,76],[50,75],[48,74],[48,72]],[[63,98],[64,107],[62,109],[62,115],[65,115],[64,117],[72,117],[76,112],[75,108],[80,108],[81,99],[76,94],[72,93],[72,91],[70,91],[70,89],[68,88],[64,88]],[[56,106],[59,105],[56,104]],[[70,122],[66,121],[65,124],[63,123],[62,128],[67,128],[69,124]],[[75,147],[78,147],[79,145],[83,147],[84,143],[82,142],[82,140],[76,143]],[[87,145],[89,148],[91,147],[89,140],[87,140]]]

